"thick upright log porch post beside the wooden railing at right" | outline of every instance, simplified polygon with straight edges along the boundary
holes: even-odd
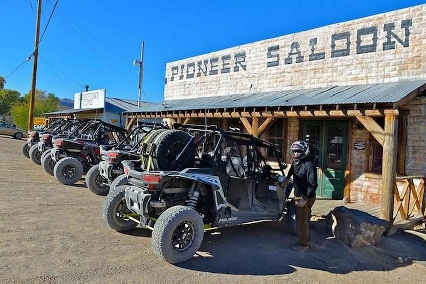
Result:
[[[395,110],[385,111],[380,218],[389,222],[393,221],[397,142],[398,113]]]

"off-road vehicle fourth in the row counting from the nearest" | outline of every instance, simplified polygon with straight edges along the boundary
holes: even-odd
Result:
[[[42,152],[40,157],[41,166],[50,175],[53,176],[53,168],[56,161],[52,159],[53,145],[57,139],[74,139],[80,134],[89,120],[80,119],[69,121],[60,131],[55,134],[42,134],[38,142],[38,150]]]

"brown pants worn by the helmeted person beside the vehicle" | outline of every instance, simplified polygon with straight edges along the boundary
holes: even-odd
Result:
[[[295,198],[295,203],[297,204],[299,198]],[[310,197],[306,201],[305,206],[297,207],[296,206],[296,232],[297,232],[297,242],[299,245],[308,246],[310,241],[310,232],[309,232],[309,221],[311,216],[311,209],[315,202],[315,197]]]

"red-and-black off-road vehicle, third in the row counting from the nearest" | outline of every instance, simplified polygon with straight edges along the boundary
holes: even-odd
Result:
[[[101,161],[100,145],[116,144],[126,134],[122,127],[96,120],[88,122],[74,139],[56,139],[51,150],[56,162],[53,175],[62,184],[74,184]]]

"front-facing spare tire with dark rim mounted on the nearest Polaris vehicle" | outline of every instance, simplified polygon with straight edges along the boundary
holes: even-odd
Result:
[[[195,143],[192,142],[181,155],[178,163],[173,163],[176,157],[182,152],[191,135],[182,130],[166,130],[158,136],[154,143],[156,147],[152,153],[152,161],[155,170],[182,170],[194,165]]]

